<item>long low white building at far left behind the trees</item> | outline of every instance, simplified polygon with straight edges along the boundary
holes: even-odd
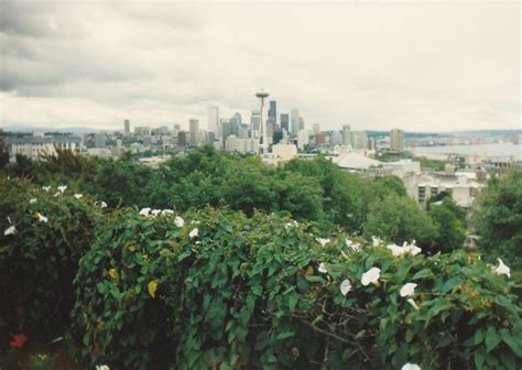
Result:
[[[81,149],[81,138],[66,135],[14,138],[11,140],[9,161],[15,162],[17,154],[32,160],[39,160],[44,155],[56,155],[56,149],[69,150],[78,154]]]

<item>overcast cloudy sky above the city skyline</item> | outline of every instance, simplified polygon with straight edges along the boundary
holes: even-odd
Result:
[[[519,1],[0,0],[0,127],[521,129]]]

